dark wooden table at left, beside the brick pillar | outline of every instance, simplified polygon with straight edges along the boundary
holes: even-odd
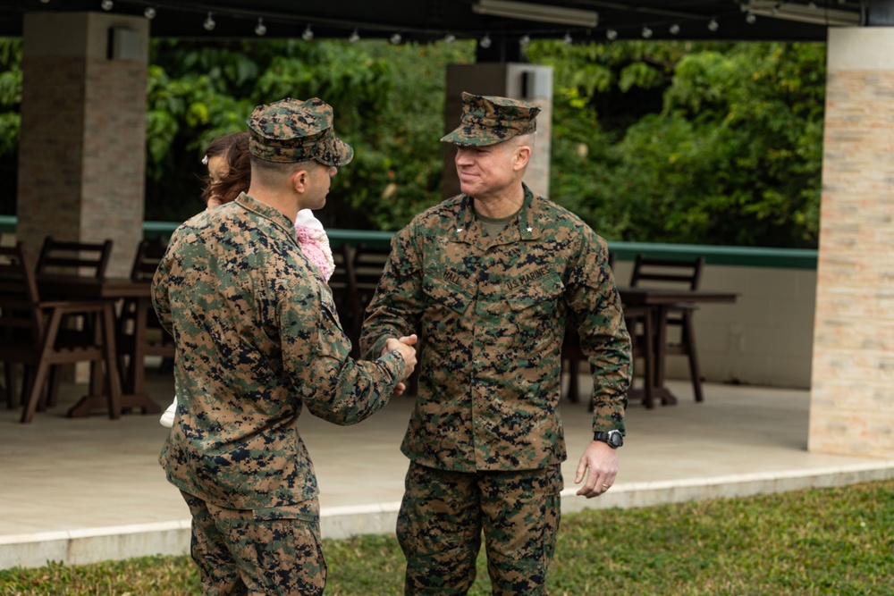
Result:
[[[38,284],[38,293],[42,299],[65,299],[65,300],[99,300],[105,304],[104,309],[104,339],[111,346],[111,352],[117,354],[115,348],[114,335],[114,304],[123,298],[133,298],[137,300],[140,312],[146,312],[151,308],[151,288],[148,281],[132,281],[128,278],[90,278],[80,277],[77,275],[48,275],[41,274],[36,278]],[[111,330],[108,329],[109,321],[112,321]],[[135,333],[145,334],[146,317],[139,316],[137,318],[137,329]],[[135,350],[139,351],[139,350]],[[131,366],[141,369],[137,364],[139,361],[131,354]],[[89,395],[83,397],[77,404],[72,406],[68,411],[68,416],[81,417],[89,416],[89,414],[97,408],[108,407],[108,404],[117,402],[119,404],[118,412],[110,412],[110,416],[117,418],[120,410],[137,408],[143,410],[146,414],[158,414],[161,407],[156,404],[143,390],[143,375],[135,374],[134,382],[127,387],[127,393],[122,393],[121,388],[121,371],[118,366],[117,358],[113,358],[112,362],[106,362],[105,365],[112,371],[110,378],[112,379],[112,387],[105,388],[110,392],[109,396],[100,395],[96,390],[94,383],[91,382],[91,390]],[[97,371],[91,373],[91,379],[97,378]]]

